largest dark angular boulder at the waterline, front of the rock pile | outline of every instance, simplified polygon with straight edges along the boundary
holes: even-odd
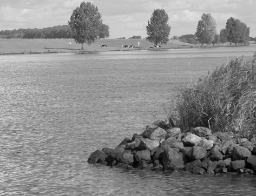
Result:
[[[174,171],[184,167],[182,154],[175,152],[172,148],[166,147],[163,151],[163,170]]]

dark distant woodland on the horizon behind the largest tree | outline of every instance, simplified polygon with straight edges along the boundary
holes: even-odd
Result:
[[[99,38],[109,37],[108,25],[102,24]],[[43,29],[14,29],[0,31],[0,38],[11,39],[61,39],[72,38],[72,32],[69,25],[58,25]]]

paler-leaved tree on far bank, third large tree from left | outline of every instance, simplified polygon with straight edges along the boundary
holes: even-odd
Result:
[[[210,13],[204,13],[201,18],[195,36],[200,44],[211,44],[216,34],[216,21]]]

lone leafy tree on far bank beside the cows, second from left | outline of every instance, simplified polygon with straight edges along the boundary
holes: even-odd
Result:
[[[158,44],[166,44],[169,40],[170,26],[168,24],[168,15],[164,9],[156,9],[152,13],[150,22],[148,21],[146,40]]]

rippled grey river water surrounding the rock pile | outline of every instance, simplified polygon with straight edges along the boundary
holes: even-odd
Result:
[[[0,195],[255,195],[255,175],[87,163],[95,150],[166,118],[161,104],[175,86],[255,51],[250,45],[0,56]]]

